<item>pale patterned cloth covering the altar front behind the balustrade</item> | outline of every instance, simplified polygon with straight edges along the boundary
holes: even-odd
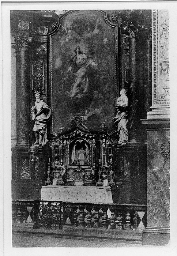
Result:
[[[41,188],[41,200],[74,203],[113,203],[111,188],[89,186],[54,186]]]

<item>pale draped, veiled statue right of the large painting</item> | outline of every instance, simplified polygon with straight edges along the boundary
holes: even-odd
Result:
[[[128,142],[128,96],[127,89],[120,91],[120,97],[117,99],[117,115],[114,117],[114,124],[117,125],[118,143]]]

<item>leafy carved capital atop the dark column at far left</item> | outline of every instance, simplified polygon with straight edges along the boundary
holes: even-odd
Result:
[[[29,48],[29,43],[32,42],[32,39],[29,37],[14,37],[15,44],[12,45],[12,48],[15,48],[16,52],[25,51]]]

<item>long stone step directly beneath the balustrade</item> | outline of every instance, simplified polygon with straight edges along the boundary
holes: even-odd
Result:
[[[63,226],[62,229],[33,229],[32,225],[12,225],[12,232],[29,233],[35,236],[62,237],[80,240],[117,241],[128,244],[142,244],[141,230],[95,229]]]

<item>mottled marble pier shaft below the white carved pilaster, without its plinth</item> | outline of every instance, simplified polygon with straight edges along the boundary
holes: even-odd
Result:
[[[170,227],[170,132],[147,131],[147,223]]]

